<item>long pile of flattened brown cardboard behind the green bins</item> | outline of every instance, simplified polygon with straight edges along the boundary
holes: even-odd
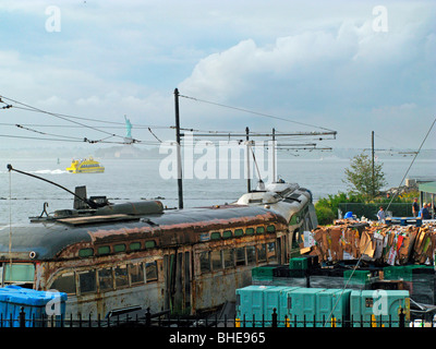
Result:
[[[312,231],[311,254],[319,262],[362,260],[388,265],[434,264],[436,225],[388,226],[378,222],[335,221]]]

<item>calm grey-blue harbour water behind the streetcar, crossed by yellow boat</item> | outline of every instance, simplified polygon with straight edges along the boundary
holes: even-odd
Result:
[[[58,186],[24,176],[9,172],[7,165],[26,171],[74,191],[86,185],[87,196],[107,196],[110,202],[160,200],[167,207],[177,207],[178,186],[175,179],[164,179],[159,172],[161,159],[97,159],[105,166],[104,173],[69,173],[65,168],[71,159],[32,158],[1,159],[0,161],[0,224],[25,222],[29,216],[39,216],[44,203],[47,212],[72,208],[73,196]],[[383,160],[388,188],[398,186],[405,174],[411,157]],[[58,164],[59,163],[59,164]],[[295,182],[312,191],[314,200],[328,194],[346,192],[344,169],[350,166],[347,158],[279,159],[277,176],[287,182]],[[436,174],[434,161],[416,159],[408,178]],[[184,207],[231,203],[246,192],[246,179],[184,179]],[[252,180],[252,188],[257,179]],[[10,200],[11,197],[11,200]]]

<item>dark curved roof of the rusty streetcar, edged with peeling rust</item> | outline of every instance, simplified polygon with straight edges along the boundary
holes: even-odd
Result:
[[[278,213],[261,206],[213,206],[166,210],[148,215],[85,216],[51,219],[27,225],[0,228],[0,260],[9,258],[10,232],[14,258],[56,258],[65,248],[75,243],[97,245],[116,241],[155,238],[158,246],[194,244],[201,234],[213,230],[244,228],[256,225],[282,225],[286,219]],[[279,228],[279,227],[278,227]]]

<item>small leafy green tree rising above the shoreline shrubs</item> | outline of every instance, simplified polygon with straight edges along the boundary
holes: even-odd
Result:
[[[346,169],[344,182],[349,184],[351,192],[372,200],[387,184],[382,168],[383,164],[373,164],[370,157],[362,153],[354,156],[350,168]]]

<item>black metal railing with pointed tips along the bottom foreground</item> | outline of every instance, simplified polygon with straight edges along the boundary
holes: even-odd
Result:
[[[73,318],[70,316],[43,316],[26,317],[26,313],[21,311],[19,316],[13,317],[12,314],[4,316],[0,314],[0,328],[1,327],[251,327],[251,328],[266,328],[266,327],[290,327],[290,328],[307,328],[307,327],[409,327],[413,326],[405,320],[405,314],[400,313],[395,320],[389,316],[372,316],[371,320],[365,320],[364,316],[355,318],[317,318],[316,316],[303,316],[302,318],[288,317],[278,318],[276,311],[268,316],[247,316],[243,315],[242,318],[237,316],[228,317],[222,316],[199,316],[199,315],[186,315],[186,316],[173,316],[170,315],[169,311],[152,314],[149,310],[137,311],[134,313],[119,314],[116,316],[100,318],[92,318],[92,315],[87,317],[78,316]],[[426,327],[436,327],[436,322],[433,320],[425,322],[425,318],[419,320],[421,324],[426,324]]]

